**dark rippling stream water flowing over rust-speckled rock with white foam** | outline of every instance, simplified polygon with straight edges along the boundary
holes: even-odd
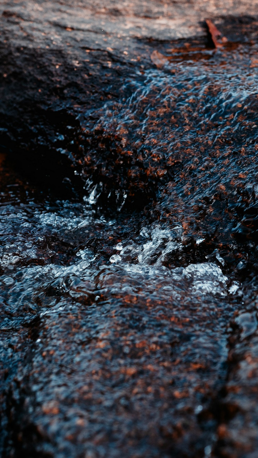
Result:
[[[55,132],[83,196],[3,157],[3,456],[255,456],[257,46],[164,54]]]

